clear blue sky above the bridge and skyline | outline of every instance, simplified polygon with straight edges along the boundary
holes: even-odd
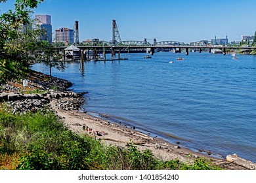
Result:
[[[14,0],[0,3],[0,14]],[[53,32],[74,28],[79,21],[79,41],[112,39],[116,20],[121,41],[181,41],[185,43],[225,38],[241,41],[256,31],[255,0],[44,0],[34,14],[51,15]]]

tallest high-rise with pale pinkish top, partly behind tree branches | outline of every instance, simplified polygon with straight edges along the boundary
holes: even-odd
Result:
[[[36,14],[35,15],[35,24],[39,25],[40,29],[45,31],[43,35],[39,36],[41,41],[53,41],[52,35],[52,25],[51,25],[51,16],[47,14]]]

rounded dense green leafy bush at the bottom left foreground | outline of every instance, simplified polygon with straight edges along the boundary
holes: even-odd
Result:
[[[39,137],[39,141],[31,144],[28,148],[28,154],[20,159],[21,163],[17,168],[35,170],[89,169],[85,161],[88,152],[89,148],[85,139],[71,131],[62,131],[62,133],[52,135],[45,132],[41,138]]]

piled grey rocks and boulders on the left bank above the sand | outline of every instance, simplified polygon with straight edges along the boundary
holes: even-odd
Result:
[[[12,113],[24,113],[51,108],[50,101],[56,101],[56,106],[63,110],[78,110],[85,103],[84,93],[67,90],[72,86],[68,80],[49,77],[33,71],[29,75],[28,86],[17,82],[9,82],[1,86],[0,103],[6,102],[12,107]],[[56,88],[55,90],[51,88]],[[36,90],[42,93],[26,93]]]

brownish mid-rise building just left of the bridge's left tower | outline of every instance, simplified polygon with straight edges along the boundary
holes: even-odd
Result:
[[[74,29],[62,27],[55,30],[56,42],[74,42]]]

